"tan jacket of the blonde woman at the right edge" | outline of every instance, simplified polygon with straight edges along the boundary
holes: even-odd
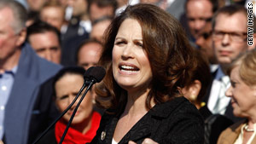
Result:
[[[224,130],[218,137],[218,144],[232,144],[236,141],[241,132],[241,126],[246,123],[246,120],[242,120],[236,124],[231,125]],[[252,144],[256,143],[256,137],[253,138]]]

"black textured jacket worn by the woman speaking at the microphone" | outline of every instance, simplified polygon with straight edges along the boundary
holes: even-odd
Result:
[[[111,143],[118,120],[119,116],[105,112],[91,144]],[[178,97],[151,108],[119,141],[119,144],[128,141],[139,144],[147,137],[161,144],[203,144],[203,119],[194,105],[184,97]]]

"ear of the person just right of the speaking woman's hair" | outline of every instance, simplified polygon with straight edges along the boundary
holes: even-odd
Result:
[[[192,84],[189,85],[189,97],[190,100],[196,101],[197,95],[199,95],[201,90],[201,82],[199,80],[195,80]]]

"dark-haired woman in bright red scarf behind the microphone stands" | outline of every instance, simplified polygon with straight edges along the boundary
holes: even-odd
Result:
[[[78,95],[79,89],[81,89],[84,84],[84,72],[85,70],[82,67],[67,66],[55,75],[53,80],[54,97],[56,107],[60,112],[64,112],[72,103],[75,96]],[[84,91],[81,95],[83,94]],[[61,141],[61,136],[79,100],[80,99],[78,99],[73,104],[73,107],[55,124],[55,128],[50,130],[38,143],[57,144]],[[90,142],[96,135],[100,121],[101,115],[93,110],[93,92],[90,89],[81,102],[62,143],[84,144]]]

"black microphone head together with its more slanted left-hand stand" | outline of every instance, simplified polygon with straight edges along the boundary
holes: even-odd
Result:
[[[52,128],[52,127],[57,123],[57,121],[60,120],[61,117],[62,117],[64,114],[67,113],[67,111],[73,106],[73,104],[75,103],[75,101],[78,100],[79,95],[82,93],[82,91],[84,90],[84,88],[85,88],[86,86],[88,86],[88,85],[90,86],[90,85],[92,85],[92,84],[101,82],[102,79],[104,78],[105,74],[106,74],[106,71],[105,71],[105,69],[104,69],[103,67],[101,67],[101,66],[92,66],[92,67],[90,67],[87,71],[85,71],[85,72],[84,72],[84,84],[83,84],[82,88],[79,90],[78,95],[76,95],[76,97],[73,99],[72,103],[66,108],[66,110],[65,110],[64,112],[62,112],[61,115],[60,115],[58,118],[56,118],[55,121],[54,121],[52,124],[50,124],[49,127],[48,127],[46,130],[44,130],[44,132],[42,133],[42,135],[40,135],[40,136],[38,137],[38,139],[33,142],[33,144],[38,143],[38,141],[50,130],[50,128]],[[92,82],[91,82],[91,81],[92,81]],[[89,86],[87,87],[87,89],[89,88]],[[91,86],[90,86],[90,87],[91,87]],[[89,88],[88,90],[87,90],[87,89],[85,90],[86,93],[87,93],[87,91],[88,91],[90,88]],[[84,93],[85,93],[85,92],[84,92]],[[83,95],[83,97],[84,97],[84,95]],[[83,98],[83,99],[84,99],[84,98]],[[83,99],[81,98],[81,100],[83,100]]]

